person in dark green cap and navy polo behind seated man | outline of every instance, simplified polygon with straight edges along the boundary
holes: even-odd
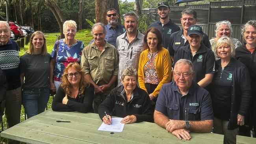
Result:
[[[180,47],[174,57],[174,63],[179,59],[188,59],[194,65],[195,76],[193,81],[200,87],[206,88],[211,83],[215,73],[215,57],[210,48],[202,43],[204,33],[200,26],[191,25],[187,30],[188,45]]]

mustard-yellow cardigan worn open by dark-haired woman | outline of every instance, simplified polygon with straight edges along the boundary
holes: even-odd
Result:
[[[145,87],[145,77],[144,77],[144,66],[148,61],[148,49],[141,52],[141,55],[139,56],[139,69],[138,69],[138,81],[139,81],[139,87],[141,89],[146,90]],[[158,54],[156,55],[155,59],[155,65],[156,65],[156,73],[157,77],[159,79],[159,84],[152,92],[153,96],[157,97],[159,94],[159,91],[163,84],[169,83],[171,81],[171,74],[172,74],[172,64],[171,64],[171,57],[169,55],[169,51],[165,48],[161,48],[160,51],[158,51]]]

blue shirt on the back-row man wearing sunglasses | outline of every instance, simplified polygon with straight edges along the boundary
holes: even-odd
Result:
[[[109,44],[112,44],[117,47],[116,42],[117,42],[117,37],[119,35],[122,35],[126,30],[123,25],[118,24],[115,28],[110,26],[110,24],[105,26],[106,29],[106,36],[105,36],[105,41],[107,41]],[[91,40],[90,44],[94,42],[94,39]]]

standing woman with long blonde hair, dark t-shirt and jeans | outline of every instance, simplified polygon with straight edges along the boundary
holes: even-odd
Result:
[[[49,100],[50,54],[41,31],[32,34],[28,51],[20,57],[19,70],[22,105],[30,118],[44,112]]]

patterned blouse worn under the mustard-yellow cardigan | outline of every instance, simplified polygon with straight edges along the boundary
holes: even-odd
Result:
[[[159,83],[155,65],[155,59],[157,54],[158,51],[153,54],[148,52],[148,61],[144,66],[145,83],[151,83],[153,85],[158,85]]]

